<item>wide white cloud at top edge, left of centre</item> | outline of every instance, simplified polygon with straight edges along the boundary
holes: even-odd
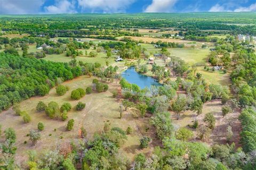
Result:
[[[129,7],[136,0],[78,0],[78,6],[82,10],[91,10],[92,12],[103,13],[121,13],[125,12],[126,8]]]

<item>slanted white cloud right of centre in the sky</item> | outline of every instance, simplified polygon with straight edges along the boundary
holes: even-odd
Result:
[[[172,12],[172,7],[178,0],[153,0],[144,12]]]

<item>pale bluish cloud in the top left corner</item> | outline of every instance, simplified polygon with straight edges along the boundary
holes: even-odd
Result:
[[[0,0],[0,14],[36,14],[45,0]]]

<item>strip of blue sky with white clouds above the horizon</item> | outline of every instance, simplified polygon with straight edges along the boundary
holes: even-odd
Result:
[[[0,0],[0,14],[256,12],[256,0]]]

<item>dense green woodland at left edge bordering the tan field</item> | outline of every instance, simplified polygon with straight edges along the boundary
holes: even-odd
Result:
[[[81,67],[36,58],[0,54],[0,110],[23,99],[49,93],[57,79],[71,80],[82,75]]]

